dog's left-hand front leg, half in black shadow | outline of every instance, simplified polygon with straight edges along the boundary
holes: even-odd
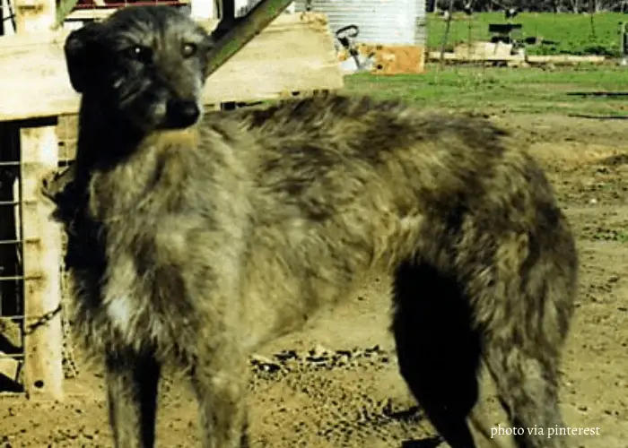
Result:
[[[105,371],[116,448],[153,448],[161,366],[148,354],[109,353]]]

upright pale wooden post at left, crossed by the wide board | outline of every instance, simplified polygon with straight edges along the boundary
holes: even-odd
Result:
[[[55,0],[20,0],[18,33],[50,30]],[[57,117],[25,122],[20,131],[24,274],[25,389],[31,398],[63,399],[61,234],[38,194],[43,175],[57,169]]]

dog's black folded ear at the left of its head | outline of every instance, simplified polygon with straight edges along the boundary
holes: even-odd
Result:
[[[100,23],[87,23],[72,31],[65,39],[67,73],[72,87],[79,93],[83,93],[89,84],[93,71],[98,70],[94,64],[98,61],[96,39],[101,28]]]

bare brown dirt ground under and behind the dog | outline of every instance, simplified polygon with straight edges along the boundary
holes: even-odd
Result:
[[[561,401],[574,447],[628,446],[628,122],[494,116],[540,159],[578,236],[580,297]],[[389,280],[374,276],[344,306],[276,340],[251,363],[255,447],[434,447],[439,439],[397,374],[387,332]],[[111,446],[102,377],[81,366],[64,403],[0,398],[4,447]],[[508,426],[484,381],[494,426]],[[163,383],[158,446],[199,446],[185,381]],[[568,437],[567,435],[564,435]],[[500,436],[498,436],[500,437]],[[505,436],[502,436],[503,440]],[[440,446],[445,446],[441,444]]]

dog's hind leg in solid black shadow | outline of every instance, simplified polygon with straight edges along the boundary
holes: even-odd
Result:
[[[455,281],[412,263],[397,268],[394,288],[401,375],[440,436],[452,448],[474,448],[467,418],[478,397],[480,344],[467,300]]]

